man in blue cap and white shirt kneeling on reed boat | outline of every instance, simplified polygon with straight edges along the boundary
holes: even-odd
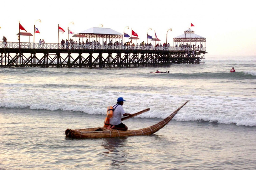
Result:
[[[121,122],[122,115],[123,116],[131,116],[129,113],[125,113],[123,109],[124,99],[119,97],[117,99],[117,104],[113,106],[113,116],[109,119],[109,127],[108,129],[117,129],[126,131],[128,128]]]

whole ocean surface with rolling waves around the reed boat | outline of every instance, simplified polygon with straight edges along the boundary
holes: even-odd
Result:
[[[256,56],[207,55],[159,67],[0,68],[0,170],[256,169]],[[65,137],[102,127],[118,97],[126,113],[150,108],[128,129],[190,101],[153,135]]]

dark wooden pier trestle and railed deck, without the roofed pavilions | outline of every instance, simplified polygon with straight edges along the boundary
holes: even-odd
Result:
[[[131,67],[204,63],[205,47],[0,42],[1,67]]]

